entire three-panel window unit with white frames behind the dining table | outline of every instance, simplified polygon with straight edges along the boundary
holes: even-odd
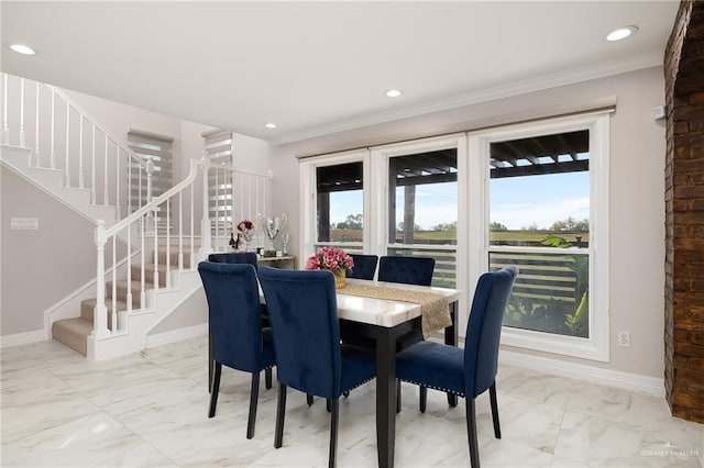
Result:
[[[301,255],[342,244],[432,256],[433,286],[464,291],[461,331],[479,277],[517,265],[502,343],[606,361],[608,119],[604,111],[304,159]],[[343,194],[354,201],[333,214]]]

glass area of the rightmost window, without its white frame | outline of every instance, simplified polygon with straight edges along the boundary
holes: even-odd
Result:
[[[490,154],[490,268],[521,272],[504,325],[588,337],[588,131],[493,142]]]

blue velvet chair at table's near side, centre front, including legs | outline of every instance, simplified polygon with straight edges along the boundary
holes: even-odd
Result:
[[[274,447],[283,443],[287,387],[326,398],[331,413],[329,466],[333,467],[340,395],[376,376],[375,356],[340,344],[332,272],[262,267],[258,275],[277,355]]]

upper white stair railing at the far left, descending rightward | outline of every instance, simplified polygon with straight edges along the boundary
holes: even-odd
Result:
[[[117,220],[139,208],[130,193],[140,205],[150,200],[151,167],[127,143],[58,88],[1,76],[3,145],[32,149],[29,166],[61,170],[64,187],[89,189],[90,204],[114,207]]]

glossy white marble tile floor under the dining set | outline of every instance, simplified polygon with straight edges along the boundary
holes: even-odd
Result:
[[[208,419],[205,336],[92,363],[56,342],[2,349],[2,467],[327,466],[329,416],[289,390],[284,446],[274,449],[276,390],[260,392],[245,438],[250,377],[223,368]],[[482,467],[702,467],[704,425],[673,419],[661,398],[502,367],[503,438],[477,401]],[[397,467],[469,466],[464,403],[430,391],[417,410],[404,385]],[[338,466],[375,467],[374,383],[342,400]]]

